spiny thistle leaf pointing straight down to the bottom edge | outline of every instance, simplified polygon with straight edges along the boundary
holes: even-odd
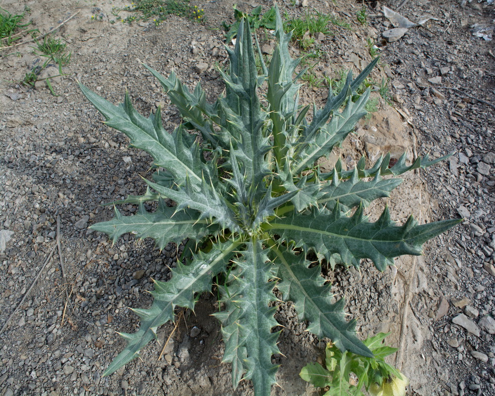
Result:
[[[240,252],[235,264],[227,287],[221,290],[225,310],[215,314],[222,322],[224,361],[232,363],[234,387],[245,374],[244,378],[254,384],[255,395],[270,395],[278,368],[272,364],[271,356],[280,353],[280,332],[271,332],[278,325],[273,318],[277,308],[269,306],[275,301],[274,283],[269,282],[273,265],[261,242],[254,238],[246,243],[246,250]]]

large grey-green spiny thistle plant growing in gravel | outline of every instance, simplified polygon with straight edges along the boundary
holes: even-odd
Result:
[[[394,257],[421,254],[424,242],[458,222],[418,225],[410,217],[396,225],[388,208],[376,222],[363,213],[366,205],[388,197],[400,183],[382,176],[427,167],[440,159],[418,158],[406,165],[404,154],[389,167],[387,155],[366,168],[362,158],[353,170],[344,170],[338,162],[330,173],[315,166],[366,114],[369,90],[357,95],[356,89],[377,60],[355,79],[349,72],[338,95],[330,89],[325,106],[313,108],[308,122],[310,106],[298,103],[297,80],[304,70],[295,76],[299,60],[289,54],[291,34],[284,32],[276,12],[278,46],[269,66],[256,38],[253,45],[243,18],[235,49],[226,48],[230,67],[222,73],[225,95],[213,104],[206,101],[199,83],[191,92],[173,72],[165,78],[145,65],[184,118],[172,134],[163,128],[159,108],[146,118],[133,108],[127,93],[124,103],[115,106],[81,85],[106,125],[147,151],[156,166],[153,180],[145,180],[143,196],[119,202],[139,204],[137,214],[124,216],[115,209],[112,220],[92,228],[114,242],[132,233],[154,239],[160,249],[169,242],[185,244],[190,253],[171,269],[168,282],[154,282],[150,308],[133,309],[141,319],[140,328],[121,334],[127,346],[104,375],[137,357],[156,338],[157,328],[174,320],[176,307],[194,309],[196,296],[210,292],[214,282],[221,296],[221,310],[214,315],[221,322],[224,362],[232,365],[234,387],[250,379],[255,395],[264,396],[276,383],[278,366],[272,355],[280,353],[280,332],[272,332],[278,325],[275,290],[294,303],[309,332],[330,338],[342,351],[372,357],[356,336],[355,322],[346,321],[344,301],[333,300],[320,263],[310,266],[311,258],[326,260],[332,267],[338,263],[357,267],[360,259],[370,259],[384,271],[394,264]],[[145,201],[157,202],[156,209],[147,211]]]

